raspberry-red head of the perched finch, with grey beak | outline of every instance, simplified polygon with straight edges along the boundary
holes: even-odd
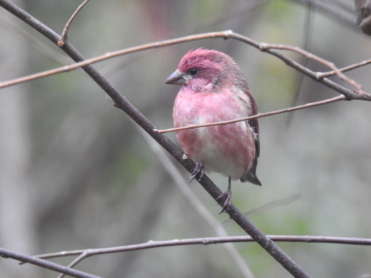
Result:
[[[180,60],[165,84],[183,85],[195,93],[217,93],[242,76],[239,66],[228,55],[209,49],[190,50]]]

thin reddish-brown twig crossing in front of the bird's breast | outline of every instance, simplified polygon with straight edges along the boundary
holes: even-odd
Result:
[[[339,95],[339,96],[333,97],[331,99],[325,99],[325,100],[321,100],[321,101],[318,101],[318,102],[307,103],[307,104],[303,104],[303,105],[299,105],[299,106],[295,106],[295,107],[290,107],[290,108],[285,108],[285,109],[281,109],[281,110],[276,110],[276,111],[272,111],[272,112],[257,113],[256,115],[245,117],[245,118],[227,120],[227,121],[222,121],[222,122],[214,122],[214,123],[203,123],[203,124],[200,124],[200,125],[187,125],[187,126],[181,126],[180,128],[170,128],[170,129],[160,129],[160,130],[159,129],[154,129],[154,131],[157,132],[158,134],[161,134],[161,133],[173,132],[173,131],[183,130],[183,129],[202,128],[202,127],[205,127],[205,126],[228,125],[230,123],[236,123],[236,122],[242,122],[242,121],[251,120],[251,119],[262,118],[262,117],[266,117],[266,116],[271,116],[271,115],[276,115],[276,114],[280,114],[280,113],[290,112],[290,111],[299,110],[299,109],[303,109],[303,108],[308,108],[308,107],[312,107],[312,106],[327,104],[327,103],[335,102],[335,101],[338,101],[338,100],[347,100],[347,98],[344,95]]]

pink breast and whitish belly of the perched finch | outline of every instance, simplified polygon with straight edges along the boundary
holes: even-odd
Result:
[[[232,92],[200,95],[181,90],[175,100],[174,126],[220,122],[246,117],[246,109]],[[246,122],[176,132],[183,150],[207,171],[241,178],[255,157],[253,133]]]

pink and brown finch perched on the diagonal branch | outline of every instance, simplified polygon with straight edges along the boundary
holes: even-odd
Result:
[[[227,54],[216,50],[190,50],[165,84],[181,85],[175,99],[175,128],[233,120],[255,115],[257,107],[246,77]],[[176,131],[181,148],[197,162],[191,180],[206,172],[228,177],[226,196],[219,212],[232,203],[231,179],[262,185],[256,176],[259,156],[257,119]]]

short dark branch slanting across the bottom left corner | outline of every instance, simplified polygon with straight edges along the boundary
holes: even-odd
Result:
[[[88,274],[86,272],[82,272],[73,268],[65,267],[64,265],[59,265],[54,262],[46,261],[42,258],[37,258],[35,256],[30,256],[26,254],[22,254],[19,252],[14,252],[5,248],[0,247],[0,256],[3,258],[12,258],[16,259],[21,262],[28,262],[30,264],[38,265],[39,267],[51,269],[54,271],[58,271],[60,273],[68,274],[72,277],[78,278],[100,278],[98,276]]]

